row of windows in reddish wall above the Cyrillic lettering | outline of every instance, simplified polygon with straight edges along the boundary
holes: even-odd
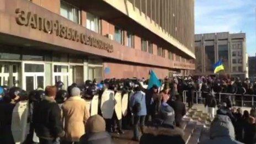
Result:
[[[81,19],[80,19],[81,15],[80,15],[80,10],[78,8],[72,6],[71,4],[65,1],[61,1],[60,12],[62,17],[65,17],[74,23],[81,24]],[[99,17],[87,12],[86,28],[92,31],[95,31],[96,33],[99,33],[101,28]],[[126,39],[126,42],[125,42],[125,39]],[[135,46],[135,35],[130,33],[129,31],[125,33],[124,30],[122,30],[121,28],[118,28],[117,26],[115,26],[114,40],[119,42],[119,44],[125,45],[127,47],[134,48]],[[148,52],[150,54],[153,54],[152,42],[142,38],[141,50]],[[162,47],[157,47],[157,56],[166,57],[165,49],[163,49]],[[181,56],[176,56],[176,57],[177,57],[176,58],[177,61],[185,62],[185,58],[182,58]],[[170,51],[168,51],[168,59],[173,60],[173,54]]]

